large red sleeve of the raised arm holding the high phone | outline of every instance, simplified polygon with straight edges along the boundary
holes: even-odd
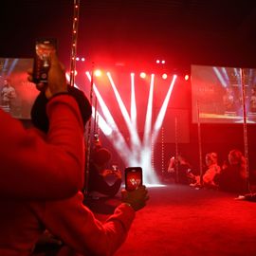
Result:
[[[47,115],[44,140],[0,110],[0,197],[60,199],[82,188],[84,141],[77,102],[68,95],[54,97]]]

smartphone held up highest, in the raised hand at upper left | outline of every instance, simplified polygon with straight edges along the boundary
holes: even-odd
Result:
[[[51,52],[57,50],[55,38],[37,39],[35,43],[35,54],[33,64],[33,82],[47,83],[48,71],[50,68],[49,56]]]

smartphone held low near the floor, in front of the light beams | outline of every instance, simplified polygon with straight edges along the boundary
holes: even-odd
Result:
[[[142,185],[142,168],[141,167],[126,167],[125,175],[125,190],[134,191]]]

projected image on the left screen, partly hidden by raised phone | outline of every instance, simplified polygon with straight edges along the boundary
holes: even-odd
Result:
[[[0,58],[0,107],[16,119],[30,119],[38,95],[34,83],[27,81],[32,59]]]

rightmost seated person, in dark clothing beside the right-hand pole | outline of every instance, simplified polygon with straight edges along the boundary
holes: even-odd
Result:
[[[241,151],[229,152],[229,163],[216,176],[219,189],[227,192],[247,192],[247,162]]]

